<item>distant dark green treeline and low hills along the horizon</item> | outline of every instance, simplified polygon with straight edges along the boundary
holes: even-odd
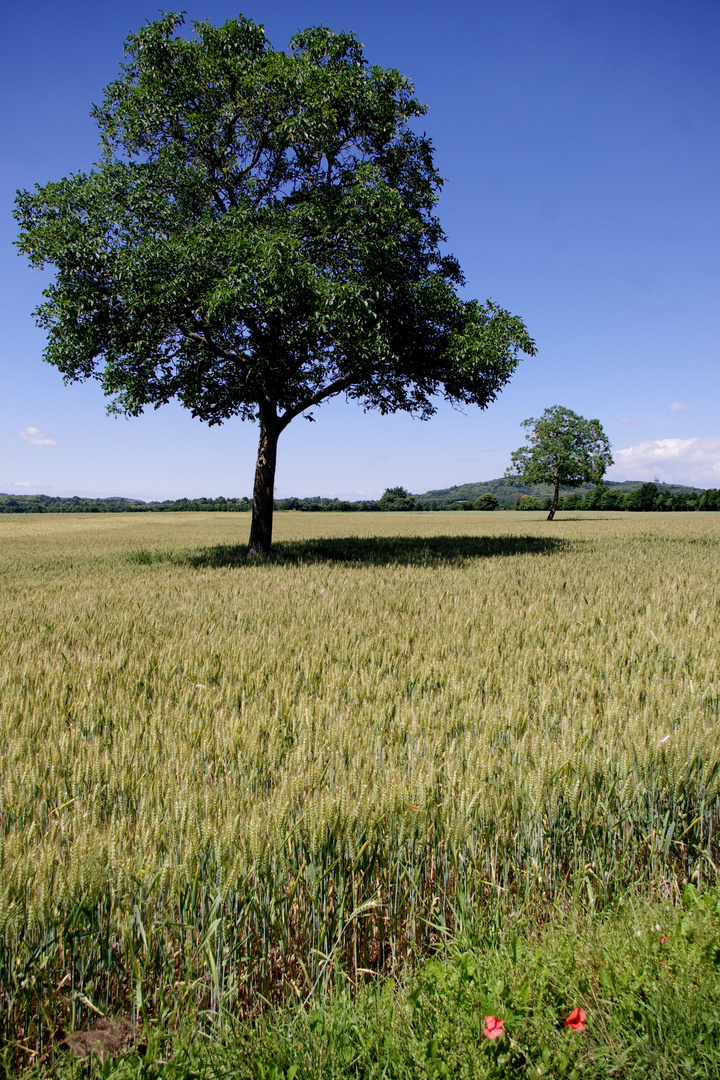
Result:
[[[500,482],[488,482],[490,484]],[[631,486],[630,486],[631,485]],[[486,485],[465,485],[470,487]],[[412,510],[420,512],[437,510],[549,510],[549,496],[527,495],[516,491],[512,501],[491,490],[484,490],[477,498],[458,498],[465,495],[460,488],[447,489],[441,498],[432,499],[410,495],[405,488],[389,488],[380,499],[363,499],[351,502],[345,499],[328,499],[313,496],[307,499],[276,499],[275,510],[363,512]],[[452,495],[456,497],[452,498]],[[439,492],[438,492],[439,494]],[[141,502],[138,499],[82,499],[79,496],[64,499],[52,495],[0,495],[0,514],[122,514],[122,513],[172,513],[174,511],[218,511],[246,512],[252,510],[252,500],[242,499],[166,499],[163,502]],[[720,510],[720,490],[684,488],[673,490],[656,484],[600,484],[586,490],[571,491],[560,496],[559,510]]]

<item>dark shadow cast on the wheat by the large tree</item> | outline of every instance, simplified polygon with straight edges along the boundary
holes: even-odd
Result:
[[[248,555],[244,544],[218,544],[185,553],[195,568],[348,563],[356,566],[438,566],[502,555],[552,555],[569,542],[554,537],[334,537],[280,540],[270,555]]]

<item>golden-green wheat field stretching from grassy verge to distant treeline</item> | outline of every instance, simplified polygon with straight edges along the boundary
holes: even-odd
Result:
[[[244,528],[0,522],[0,1038],[715,877],[717,515]]]

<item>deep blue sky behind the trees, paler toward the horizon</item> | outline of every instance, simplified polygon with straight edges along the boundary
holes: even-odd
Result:
[[[717,0],[187,0],[188,21],[240,11],[275,48],[318,23],[353,30],[371,63],[413,80],[466,294],[522,315],[539,348],[485,411],[440,404],[423,423],[334,401],[296,420],[279,496],[490,480],[520,421],[555,404],[601,421],[609,478],[720,486]],[[175,405],[110,418],[96,384],[63,386],[30,315],[43,275],[12,247],[15,189],[91,167],[90,107],[157,12],[26,0],[3,13],[0,491],[252,490],[254,426],[208,429]]]

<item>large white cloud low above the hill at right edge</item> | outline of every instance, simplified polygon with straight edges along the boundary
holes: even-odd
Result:
[[[613,457],[613,480],[657,476],[668,484],[720,485],[720,438],[653,438],[614,450]]]

